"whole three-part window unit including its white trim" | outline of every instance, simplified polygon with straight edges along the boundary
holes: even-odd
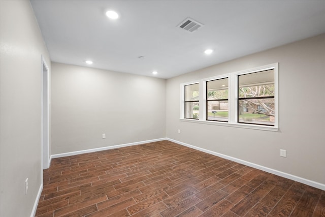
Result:
[[[278,63],[183,83],[181,96],[182,121],[270,131],[279,128]]]

